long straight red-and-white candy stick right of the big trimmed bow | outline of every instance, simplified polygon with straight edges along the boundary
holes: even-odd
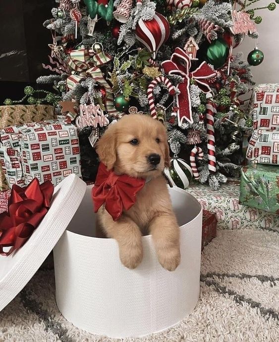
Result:
[[[212,102],[212,94],[207,94],[206,103],[206,135],[207,135],[207,155],[208,169],[210,173],[216,173],[216,156],[215,156],[215,137],[214,137],[214,114],[217,113],[216,106]]]

